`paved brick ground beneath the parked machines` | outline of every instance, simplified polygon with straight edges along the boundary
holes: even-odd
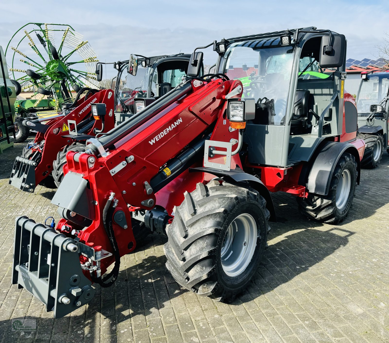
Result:
[[[11,286],[16,216],[56,214],[54,190],[28,194],[8,185],[23,145],[0,155],[1,342],[389,342],[389,155],[363,170],[341,225],[303,217],[295,199],[273,196],[278,223],[254,282],[232,304],[181,289],[165,269],[162,235],[121,259],[109,289],[54,320],[53,312]],[[34,319],[36,332],[11,332],[10,319]]]

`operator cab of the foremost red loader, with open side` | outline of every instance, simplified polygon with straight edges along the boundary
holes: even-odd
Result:
[[[309,161],[323,141],[355,139],[356,108],[343,88],[343,35],[306,28],[223,42],[219,72],[251,78],[243,84],[243,97],[256,103],[244,132],[251,164],[289,167]]]

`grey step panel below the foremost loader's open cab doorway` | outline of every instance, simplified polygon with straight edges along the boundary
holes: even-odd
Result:
[[[317,146],[324,140],[311,135],[290,136],[288,162],[309,161]]]

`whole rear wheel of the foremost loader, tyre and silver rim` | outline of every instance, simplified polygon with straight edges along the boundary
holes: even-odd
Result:
[[[310,219],[337,224],[349,213],[357,184],[357,162],[350,153],[343,153],[336,164],[326,197],[308,194],[297,198],[299,210]]]

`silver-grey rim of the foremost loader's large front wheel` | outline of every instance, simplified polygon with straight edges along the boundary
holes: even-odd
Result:
[[[244,272],[254,255],[257,234],[257,224],[250,214],[240,214],[233,220],[221,248],[224,273],[235,277]]]

